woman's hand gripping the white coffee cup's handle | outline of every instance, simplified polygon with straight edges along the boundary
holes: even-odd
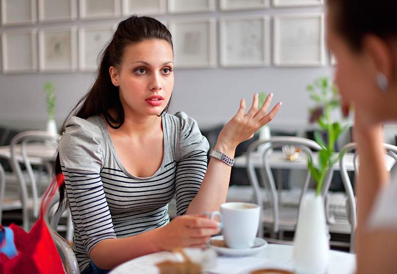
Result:
[[[161,250],[177,247],[202,247],[211,235],[220,231],[218,223],[199,215],[184,215],[158,228],[155,242]]]

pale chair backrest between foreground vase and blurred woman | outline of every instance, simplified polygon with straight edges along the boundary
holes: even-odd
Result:
[[[386,153],[390,155],[394,160],[397,162],[397,146],[385,143],[384,144]],[[342,147],[340,150],[340,156],[339,156],[339,166],[340,166],[340,175],[342,177],[342,183],[345,189],[345,193],[347,196],[347,219],[350,223],[350,252],[354,253],[355,248],[354,248],[354,236],[355,236],[355,230],[357,227],[357,216],[356,216],[356,199],[354,196],[354,191],[353,187],[350,181],[350,178],[347,174],[347,169],[346,169],[346,159],[345,155],[348,152],[351,152],[352,150],[356,149],[356,143],[351,142]],[[357,161],[357,151],[354,153],[353,157],[353,166],[354,166],[354,172],[358,174],[358,161]]]

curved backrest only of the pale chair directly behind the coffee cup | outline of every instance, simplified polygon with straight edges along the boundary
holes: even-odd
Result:
[[[266,143],[270,143],[270,145],[266,145],[266,146],[268,146],[267,148],[265,148],[261,152],[254,152],[258,148],[259,145],[263,145]],[[262,214],[262,207],[264,205],[264,199],[262,197],[262,192],[260,189],[259,181],[261,181],[261,183],[265,186],[265,188],[267,190],[266,193],[268,193],[268,195],[270,196],[269,202],[270,202],[270,206],[272,209],[273,220],[274,220],[273,224],[272,224],[273,225],[272,232],[279,231],[279,200],[278,200],[278,195],[276,192],[274,178],[271,173],[268,156],[269,156],[269,152],[271,151],[271,148],[279,148],[279,147],[282,147],[283,145],[294,145],[294,146],[300,147],[302,149],[302,151],[306,154],[308,159],[309,159],[309,157],[311,157],[311,158],[313,157],[312,150],[320,150],[321,149],[321,146],[313,140],[303,138],[303,137],[289,137],[289,136],[276,136],[276,137],[270,137],[267,140],[257,140],[255,142],[253,142],[248,147],[247,154],[246,154],[246,157],[247,157],[246,168],[247,168],[248,177],[249,177],[250,183],[254,187],[255,199],[261,208],[261,214]],[[258,153],[261,153],[261,155],[259,155],[259,156],[261,156],[261,158],[262,158],[262,166],[259,169],[261,180],[258,180],[257,174],[255,172],[255,166],[253,163],[253,157],[258,157]],[[299,198],[299,205],[301,204],[303,194],[307,191],[307,189],[309,187],[309,183],[310,183],[310,170],[307,168],[306,168],[306,170],[307,170],[307,173],[305,176],[305,181],[302,185],[301,194],[300,194],[300,198]],[[262,219],[262,216],[261,216],[261,219]],[[261,237],[263,236],[262,222],[260,222],[260,227],[258,229],[258,235]]]

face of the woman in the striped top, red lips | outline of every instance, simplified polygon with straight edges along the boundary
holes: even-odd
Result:
[[[167,106],[174,87],[171,45],[150,39],[126,46],[120,66],[110,68],[126,115],[159,115]]]

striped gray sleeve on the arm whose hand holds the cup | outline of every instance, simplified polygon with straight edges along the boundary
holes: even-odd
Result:
[[[92,123],[72,117],[59,144],[71,216],[87,254],[99,241],[116,238],[100,171],[102,137]]]

